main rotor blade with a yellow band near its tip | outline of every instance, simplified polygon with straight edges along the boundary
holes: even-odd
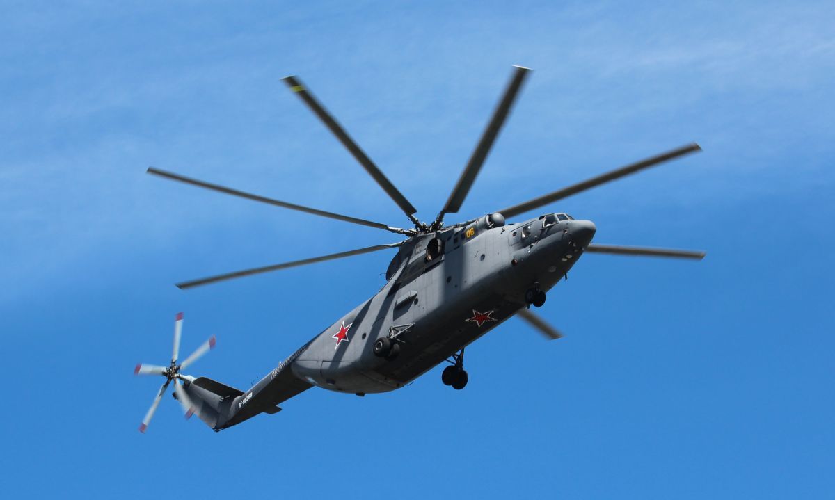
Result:
[[[374,164],[374,162],[372,162],[372,160],[368,158],[367,154],[365,154],[365,152],[362,151],[362,149],[360,149],[357,143],[355,143],[354,140],[351,139],[351,137],[347,134],[345,129],[342,129],[342,126],[337,123],[337,120],[334,119],[331,116],[331,114],[329,114],[327,110],[321,104],[319,104],[319,101],[317,101],[316,98],[313,97],[313,94],[309,90],[307,90],[307,88],[304,85],[301,84],[299,78],[295,76],[289,76],[281,79],[283,79],[284,83],[287,84],[287,87],[290,87],[290,89],[294,93],[296,93],[296,95],[298,95],[299,98],[301,98],[301,100],[304,101],[305,104],[307,104],[307,107],[310,108],[313,111],[313,113],[315,113],[316,116],[319,117],[319,119],[321,119],[322,123],[324,123],[325,126],[328,129],[330,129],[334,135],[337,136],[339,142],[341,142],[342,145],[345,146],[348,149],[348,151],[353,155],[353,157],[357,159],[358,162],[360,162],[362,168],[366,169],[366,172],[368,172],[368,174],[371,175],[372,178],[374,178],[374,180],[377,181],[377,184],[380,184],[382,190],[386,191],[386,194],[388,194],[389,197],[394,200],[394,203],[396,203],[397,206],[400,207],[400,210],[402,210],[406,214],[409,220],[417,224],[417,219],[415,219],[412,215],[415,212],[417,212],[417,209],[415,209],[412,206],[412,204],[409,203],[409,200],[406,199],[406,197],[403,196],[403,194],[400,191],[398,191],[396,187],[394,187],[394,184],[392,184],[391,181],[389,181],[386,178],[386,176],[382,174],[382,171],[379,168],[377,168],[377,165]]]

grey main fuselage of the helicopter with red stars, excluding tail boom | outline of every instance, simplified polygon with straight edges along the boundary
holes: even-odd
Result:
[[[594,234],[590,221],[549,214],[509,225],[487,215],[414,236],[399,247],[377,294],[281,368],[331,391],[402,387],[527,307],[528,290],[550,290]],[[382,336],[400,344],[396,358],[374,354]]]

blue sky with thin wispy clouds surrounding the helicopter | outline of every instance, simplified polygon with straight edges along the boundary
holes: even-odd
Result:
[[[832,497],[835,6],[824,2],[6,2],[0,20],[0,417],[23,497]],[[691,141],[569,199],[595,241],[542,313],[385,395],[311,390],[215,434],[166,397],[246,387],[382,285],[392,242],[154,179],[154,165],[406,225],[280,78],[298,74],[431,219],[510,66],[534,68],[461,218]],[[552,211],[553,211],[552,210]],[[543,210],[544,211],[544,210]],[[538,215],[538,214],[532,214]]]

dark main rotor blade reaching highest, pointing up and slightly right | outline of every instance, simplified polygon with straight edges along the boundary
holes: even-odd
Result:
[[[447,204],[443,205],[443,210],[438,214],[438,221],[443,220],[443,215],[454,214],[461,208],[464,198],[467,197],[470,188],[473,186],[473,181],[475,181],[478,171],[481,169],[484,160],[487,159],[487,155],[493,147],[493,141],[496,140],[498,131],[502,128],[505,119],[507,119],[510,113],[510,108],[514,104],[516,95],[519,93],[519,88],[522,86],[525,76],[530,71],[529,68],[523,68],[522,66],[514,66],[514,68],[514,74],[510,78],[508,87],[505,88],[502,99],[493,111],[493,118],[488,122],[487,128],[484,129],[478,145],[473,150],[473,154],[467,162],[467,166],[464,167],[463,172],[461,172],[461,177],[458,178],[458,183],[455,184],[452,193],[449,194]]]

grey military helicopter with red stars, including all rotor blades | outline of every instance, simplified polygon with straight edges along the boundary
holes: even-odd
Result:
[[[392,227],[149,168],[149,174],[166,179],[386,230],[406,236],[406,239],[177,284],[180,289],[190,289],[378,250],[397,250],[388,265],[386,284],[381,290],[334,321],[247,391],[182,373],[215,346],[215,338],[205,341],[185,361],[179,361],[183,321],[180,313],[175,321],[174,351],[169,366],[140,364],[134,371],[138,375],[165,377],[139,430],[144,432],[148,427],[172,382],[173,396],[180,402],[186,417],[196,414],[215,432],[260,413],[275,414],[281,411],[279,404],[313,386],[358,396],[393,391],[444,362],[449,364],[441,373],[443,384],[460,390],[468,381],[468,373],[464,370],[465,347],[510,317],[518,315],[548,339],[561,336],[556,328],[534,314],[530,306],[543,306],[549,290],[567,277],[568,271],[585,252],[701,260],[705,256],[701,251],[593,244],[595,224],[590,220],[575,220],[564,213],[546,213],[517,223],[507,222],[509,218],[572,194],[699,151],[698,144],[672,149],[477,219],[452,225],[444,222],[446,215],[458,213],[461,208],[528,74],[529,68],[514,66],[509,84],[458,182],[446,204],[429,223],[415,217],[415,207],[313,97],[310,89],[292,76],[284,78],[287,86],[377,181],[412,227]]]

